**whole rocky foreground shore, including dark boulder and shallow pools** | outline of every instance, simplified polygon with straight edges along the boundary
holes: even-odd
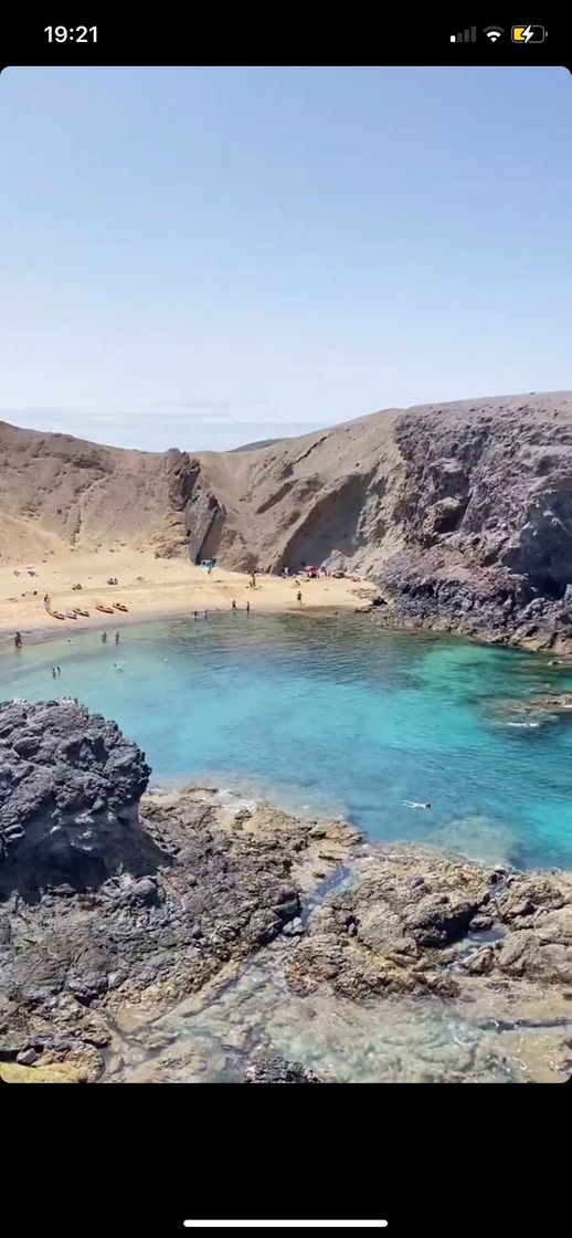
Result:
[[[212,789],[145,795],[149,776],[136,745],[74,701],[0,707],[5,1081],[129,1078],[125,1029],[155,1054],[139,1078],[194,1078],[172,1047],[163,1050],[180,1040],[181,1020],[187,1029],[194,1018],[204,1024],[210,1000],[224,1023],[217,1052],[227,1046],[233,1067],[213,1075],[212,1039],[202,1034],[201,1077],[348,1078],[328,1060],[316,1070],[336,1020],[353,1023],[358,1039],[366,1016],[375,1056],[378,1037],[391,1035],[404,1010],[441,1025],[469,1019],[482,1039],[494,1030],[485,1052],[479,1041],[464,1065],[451,1062],[438,1077],[566,1077],[567,874],[366,846],[345,822],[239,807]],[[286,1034],[279,1045],[269,1039],[265,1002],[272,1010],[282,1003],[290,1020],[293,1003],[301,1026],[312,1024],[312,1062],[288,1060]],[[250,1011],[248,1034],[243,1018],[244,1035],[232,1035],[240,1003]],[[407,1028],[415,1018],[407,1013]],[[300,1035],[296,1045],[305,1044]]]

